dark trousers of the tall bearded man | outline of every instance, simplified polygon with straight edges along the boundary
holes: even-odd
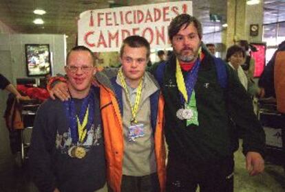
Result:
[[[167,163],[167,192],[233,191],[233,156],[209,163],[191,163],[169,154]]]

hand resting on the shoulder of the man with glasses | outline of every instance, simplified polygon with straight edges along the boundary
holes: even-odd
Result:
[[[50,97],[55,99],[55,96],[59,97],[61,101],[67,101],[70,99],[70,93],[68,92],[67,84],[65,82],[58,82],[50,90]]]

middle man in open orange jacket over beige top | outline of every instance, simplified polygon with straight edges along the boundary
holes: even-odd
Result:
[[[165,191],[164,102],[156,80],[145,73],[149,54],[145,38],[129,36],[120,49],[122,67],[96,73],[101,86],[107,180],[116,192]],[[65,98],[59,88],[53,92]]]

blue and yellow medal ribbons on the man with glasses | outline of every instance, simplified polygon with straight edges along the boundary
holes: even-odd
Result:
[[[79,115],[76,115],[74,99],[64,102],[67,119],[72,137],[72,143],[84,143],[87,131],[94,120],[94,89],[90,88],[89,94],[83,99]]]

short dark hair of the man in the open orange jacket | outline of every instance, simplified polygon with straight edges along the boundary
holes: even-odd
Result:
[[[120,57],[122,58],[124,53],[125,45],[128,45],[129,47],[145,47],[147,49],[147,58],[149,58],[150,55],[150,45],[149,42],[142,36],[128,36],[123,40],[123,44],[120,47]]]

